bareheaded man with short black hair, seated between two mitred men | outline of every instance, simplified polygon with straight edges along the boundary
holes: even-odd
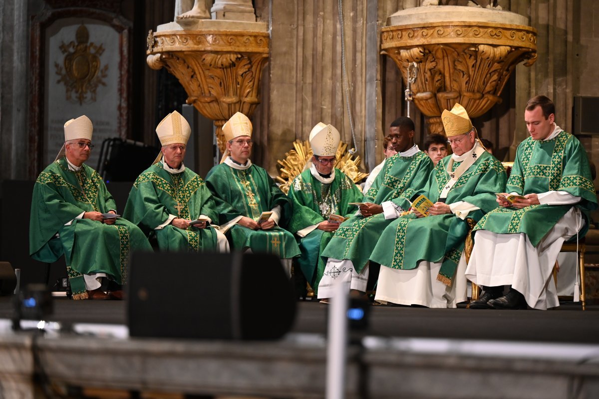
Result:
[[[432,162],[414,144],[412,119],[402,116],[394,120],[388,137],[398,154],[385,161],[382,172],[365,194],[359,213],[341,224],[322,252],[328,259],[318,286],[319,298],[330,298],[338,281],[349,289],[366,291],[368,258],[380,234],[409,208],[409,193],[423,189],[428,181]]]

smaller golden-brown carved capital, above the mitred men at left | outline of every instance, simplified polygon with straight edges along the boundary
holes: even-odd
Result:
[[[164,67],[179,79],[189,96],[187,104],[214,120],[224,151],[222,125],[237,111],[251,117],[260,102],[268,33],[161,31],[152,37],[147,41],[147,64]]]

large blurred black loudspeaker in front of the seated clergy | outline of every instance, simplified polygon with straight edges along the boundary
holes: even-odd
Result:
[[[134,253],[130,265],[132,337],[269,340],[294,322],[294,289],[276,256]]]

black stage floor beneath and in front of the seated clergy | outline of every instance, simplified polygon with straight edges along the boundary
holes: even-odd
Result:
[[[295,333],[326,333],[328,305],[298,301]],[[10,318],[10,297],[0,298],[0,318]],[[50,321],[126,324],[125,301],[55,298]],[[424,309],[370,306],[367,335],[482,340],[599,343],[599,305],[562,304],[554,310]]]

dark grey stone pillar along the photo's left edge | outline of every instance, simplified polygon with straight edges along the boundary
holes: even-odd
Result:
[[[0,2],[0,180],[34,179],[29,171],[29,19],[22,0]]]

